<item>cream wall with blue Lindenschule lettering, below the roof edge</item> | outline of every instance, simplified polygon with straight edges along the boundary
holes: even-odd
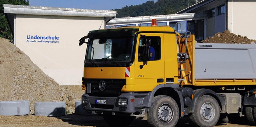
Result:
[[[80,85],[86,44],[78,46],[79,40],[89,30],[98,30],[103,20],[104,18],[17,14],[15,43],[34,64],[60,85]],[[37,39],[33,39],[35,36]],[[49,36],[54,38],[49,39]]]

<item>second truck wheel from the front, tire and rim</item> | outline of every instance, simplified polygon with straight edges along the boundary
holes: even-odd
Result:
[[[190,120],[200,127],[213,127],[220,118],[220,106],[210,95],[203,95],[195,105]]]

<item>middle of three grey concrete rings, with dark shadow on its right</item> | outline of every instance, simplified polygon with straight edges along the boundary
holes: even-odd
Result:
[[[65,108],[65,102],[35,102],[35,115],[63,116]]]

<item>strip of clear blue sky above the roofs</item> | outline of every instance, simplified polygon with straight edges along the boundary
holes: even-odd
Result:
[[[79,8],[92,10],[121,9],[130,5],[139,5],[149,0],[29,0],[30,6],[58,8]],[[155,2],[157,0],[154,0]]]

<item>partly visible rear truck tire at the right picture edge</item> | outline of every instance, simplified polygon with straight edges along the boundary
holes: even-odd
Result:
[[[256,125],[256,107],[245,107],[245,116],[251,125]]]

